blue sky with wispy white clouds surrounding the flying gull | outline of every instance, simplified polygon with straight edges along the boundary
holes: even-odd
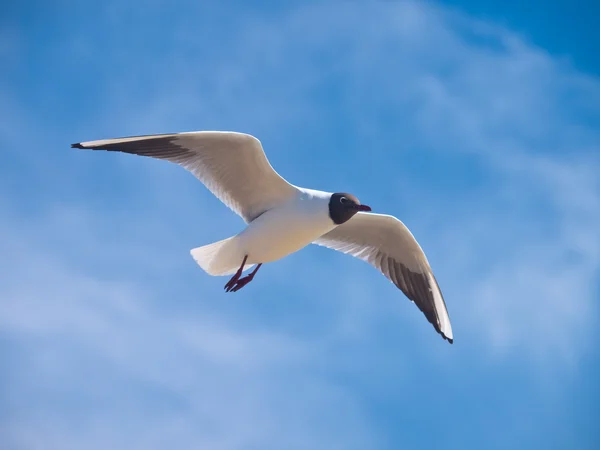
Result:
[[[598,32],[545,5],[5,5],[0,446],[597,448]],[[316,246],[224,294],[189,250],[240,218],[69,148],[211,129],[401,218],[455,344]]]

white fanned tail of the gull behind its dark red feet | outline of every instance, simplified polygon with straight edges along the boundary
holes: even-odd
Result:
[[[190,250],[198,265],[209,275],[231,275],[235,273],[244,259],[237,236]],[[244,270],[254,264],[247,264]]]

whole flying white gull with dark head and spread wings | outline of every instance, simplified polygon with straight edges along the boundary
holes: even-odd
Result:
[[[241,216],[247,226],[240,233],[190,251],[208,274],[233,275],[225,284],[227,292],[250,283],[263,264],[317,244],[374,266],[417,305],[445,340],[453,342],[442,292],[408,228],[394,216],[372,213],[352,194],[290,184],[273,169],[254,136],[194,131],[79,142],[71,147],[178,164]]]

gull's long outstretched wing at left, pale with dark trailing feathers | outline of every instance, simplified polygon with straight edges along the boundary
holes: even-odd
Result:
[[[271,167],[260,141],[248,134],[196,131],[81,142],[71,147],[131,153],[179,164],[246,222],[297,193]]]

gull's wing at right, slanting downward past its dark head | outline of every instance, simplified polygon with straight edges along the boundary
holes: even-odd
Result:
[[[400,220],[359,212],[314,243],[373,265],[417,305],[444,339],[453,342],[446,303],[429,262]]]

